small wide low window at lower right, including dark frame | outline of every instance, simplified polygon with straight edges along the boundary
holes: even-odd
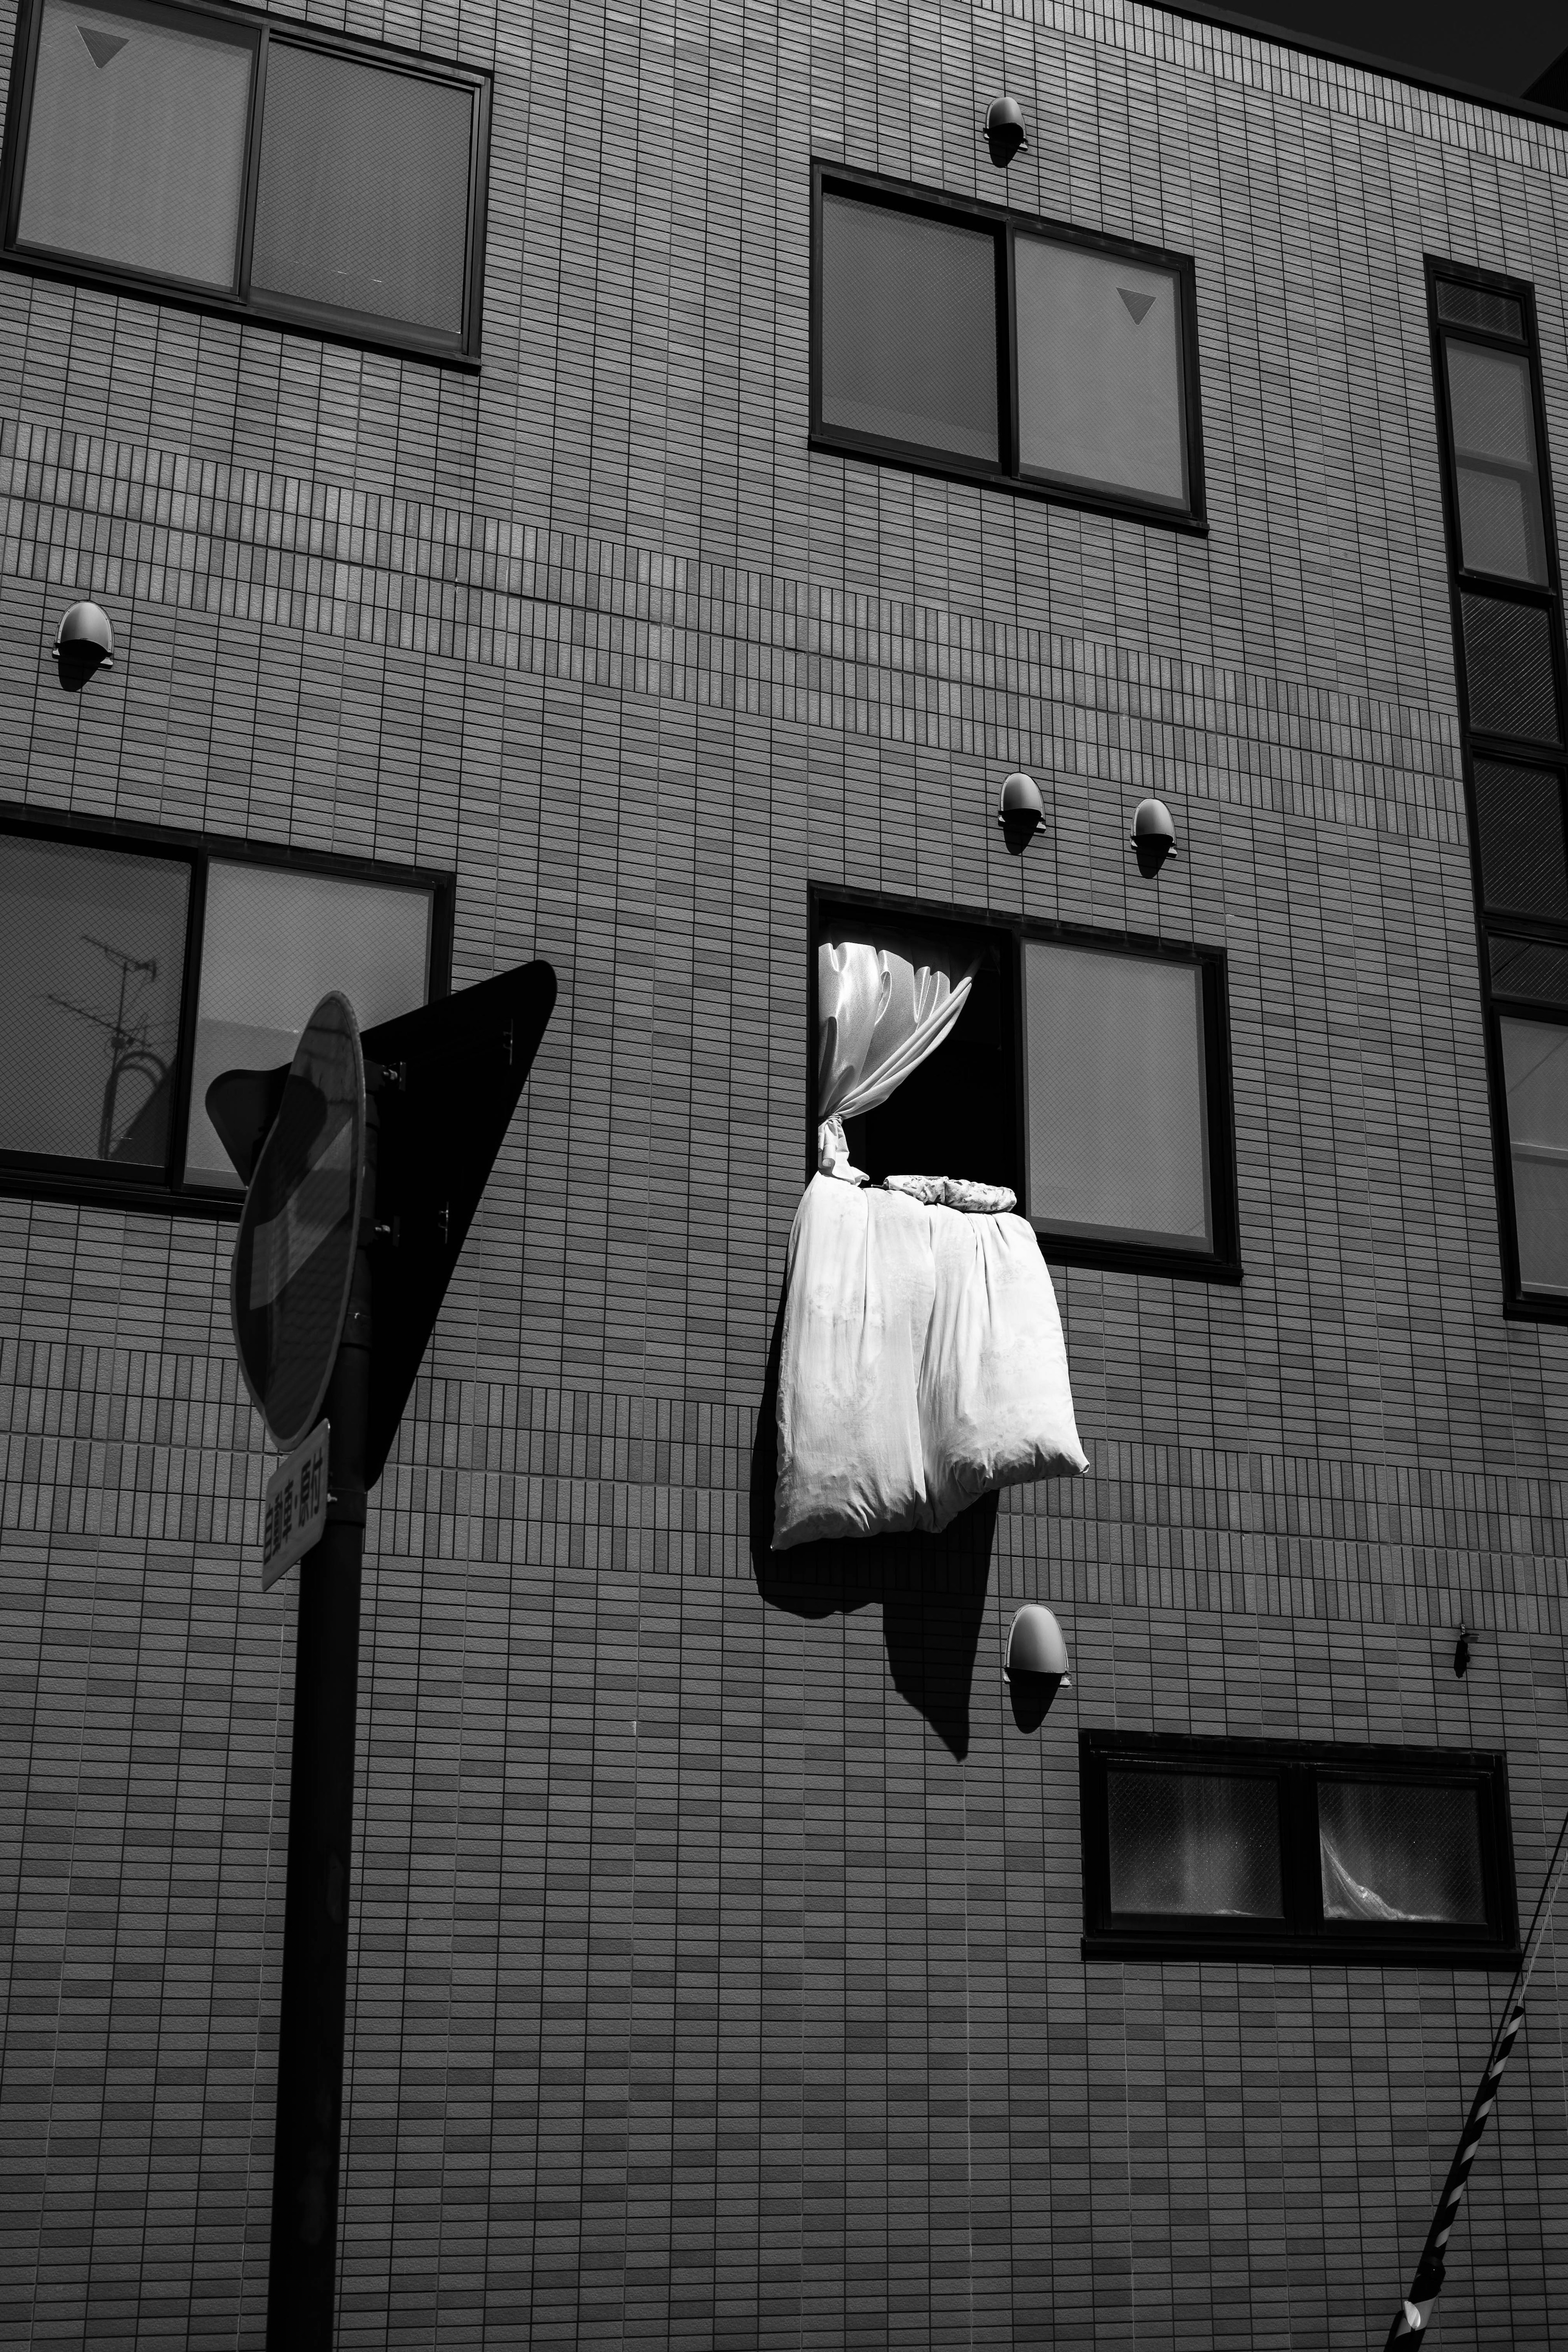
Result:
[[[1079,1733],[1088,1959],[1519,1959],[1500,1755]]]

